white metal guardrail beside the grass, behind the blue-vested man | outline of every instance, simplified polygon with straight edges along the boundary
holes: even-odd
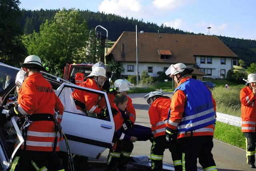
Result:
[[[234,125],[237,127],[242,126],[242,118],[237,116],[228,115],[225,113],[216,112],[216,120],[223,123],[228,123],[229,125]]]

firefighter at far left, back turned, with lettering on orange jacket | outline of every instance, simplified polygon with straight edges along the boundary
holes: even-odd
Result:
[[[20,88],[18,104],[12,107],[6,116],[8,119],[10,116],[27,117],[30,122],[23,125],[22,134],[25,141],[18,150],[10,170],[64,171],[55,153],[59,151],[58,123],[62,120],[64,107],[51,84],[40,74],[41,70],[46,69],[38,56],[28,56],[20,66],[21,74],[27,74],[28,78]]]

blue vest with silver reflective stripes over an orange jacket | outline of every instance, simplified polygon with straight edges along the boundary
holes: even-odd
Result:
[[[201,81],[192,78],[180,84],[175,90],[182,90],[187,96],[187,103],[178,125],[178,132],[192,131],[216,122],[211,91]]]

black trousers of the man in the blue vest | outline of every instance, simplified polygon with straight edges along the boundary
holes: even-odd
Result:
[[[213,136],[179,138],[183,171],[197,171],[197,158],[204,171],[217,171],[212,155]]]

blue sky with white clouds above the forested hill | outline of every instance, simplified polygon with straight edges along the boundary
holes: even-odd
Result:
[[[20,0],[20,8],[80,9],[136,18],[195,34],[256,40],[256,0]],[[104,27],[104,26],[103,26]],[[210,30],[207,27],[211,27]],[[135,31],[135,28],[134,28]]]

